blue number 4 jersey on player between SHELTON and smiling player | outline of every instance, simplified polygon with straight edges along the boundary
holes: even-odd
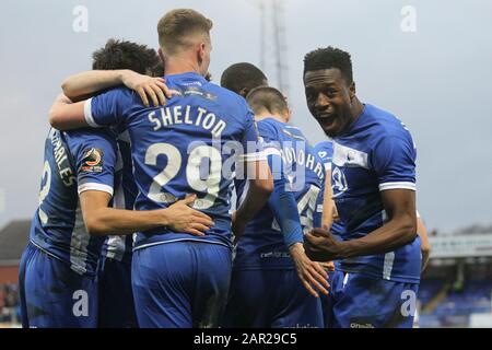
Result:
[[[325,180],[321,160],[316,155],[306,138],[296,127],[267,118],[258,121],[258,131],[263,141],[265,154],[282,158],[290,190],[294,191],[301,225],[304,233],[313,229],[317,198]],[[273,176],[279,170],[272,168]],[[237,197],[241,201],[247,180],[236,182]],[[284,237],[267,205],[249,222],[244,235],[238,240],[234,269],[284,268],[292,267]]]

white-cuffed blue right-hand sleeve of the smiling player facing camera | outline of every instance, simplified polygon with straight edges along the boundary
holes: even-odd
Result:
[[[377,174],[379,190],[415,190],[415,158],[411,137],[382,138],[372,153],[372,167]]]

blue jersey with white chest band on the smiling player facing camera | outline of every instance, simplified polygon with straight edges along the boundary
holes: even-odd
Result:
[[[331,184],[343,240],[360,238],[387,220],[380,191],[415,190],[417,150],[394,115],[366,104],[350,130],[333,139]],[[397,282],[420,280],[420,238],[394,252],[341,261],[341,269]]]

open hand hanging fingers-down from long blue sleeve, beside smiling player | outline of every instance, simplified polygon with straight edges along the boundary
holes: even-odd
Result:
[[[328,288],[330,287],[328,273],[321,264],[309,260],[301,243],[291,245],[289,250],[304,288],[315,298],[319,298],[316,290],[323,294],[328,294]]]

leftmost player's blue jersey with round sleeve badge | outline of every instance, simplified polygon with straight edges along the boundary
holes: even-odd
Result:
[[[30,240],[80,275],[95,275],[104,238],[86,232],[79,194],[101,190],[113,196],[116,152],[115,138],[105,129],[51,129],[46,139]]]

